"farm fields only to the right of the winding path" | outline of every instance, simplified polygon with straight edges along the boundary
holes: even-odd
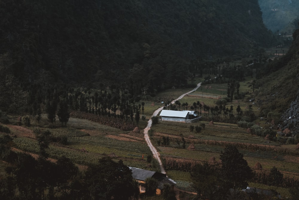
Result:
[[[227,103],[227,107],[233,106],[234,113],[237,105],[241,107],[243,111],[248,110],[251,105],[252,110],[256,116],[260,115],[259,108],[256,104],[249,102],[252,97],[250,93],[252,88],[250,87],[251,78],[246,79],[244,82],[240,82],[240,92],[247,92],[245,98],[242,100],[234,100]],[[197,91],[190,93],[188,96],[183,97],[180,102],[187,102],[192,105],[193,102],[203,102],[208,106],[215,106],[217,99],[225,97],[225,88],[227,85],[210,84],[201,86]],[[214,98],[215,97],[215,98]],[[260,121],[261,127],[269,127],[267,121]],[[205,124],[205,128],[200,133],[195,131],[190,132],[190,124],[160,121],[159,124],[155,124],[152,127],[152,139],[156,148],[159,150],[164,162],[169,163],[168,160],[176,160],[177,162],[187,162],[192,160],[193,162],[208,162],[212,157],[215,157],[216,161],[219,161],[219,155],[224,150],[224,146],[227,143],[235,143],[238,146],[239,152],[244,155],[244,159],[247,160],[248,166],[252,169],[259,162],[261,163],[263,170],[268,171],[275,166],[284,177],[299,179],[299,152],[295,150],[296,145],[281,145],[279,142],[269,141],[263,137],[249,134],[245,128],[239,128],[237,124],[226,124],[214,122],[210,125],[209,121],[198,121],[192,125],[201,126]],[[188,139],[192,136],[192,139]],[[161,145],[163,137],[169,137],[169,145]],[[182,147],[183,142],[181,137],[185,138],[185,148]],[[190,145],[194,146],[192,151],[187,150]],[[253,148],[254,147],[254,148]],[[182,175],[180,175],[180,172]],[[168,171],[167,171],[168,173]],[[187,183],[190,181],[182,171],[170,170],[169,176],[178,181],[177,186],[181,189],[189,189]],[[252,187],[258,187],[261,189],[269,189],[269,186],[251,183]],[[280,192],[283,197],[289,197],[290,194],[286,188],[280,188]]]

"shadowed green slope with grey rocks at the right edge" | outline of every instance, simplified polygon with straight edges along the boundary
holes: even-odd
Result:
[[[299,30],[293,34],[293,42],[289,51],[280,59],[276,59],[264,67],[261,71],[264,74],[270,73],[269,76],[263,76],[257,81],[259,91],[256,91],[260,106],[263,110],[271,110],[280,113],[281,120],[285,121],[281,124],[284,128],[291,128],[298,131],[297,106],[298,106],[298,49],[299,46]],[[297,99],[297,100],[296,100]],[[292,104],[292,106],[291,106]],[[290,108],[291,107],[291,108]],[[293,121],[287,121],[292,118]],[[290,125],[292,124],[292,125]]]

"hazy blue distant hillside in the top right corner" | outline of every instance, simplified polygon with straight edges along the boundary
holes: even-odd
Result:
[[[264,24],[271,31],[277,34],[291,34],[298,28],[297,24],[292,24],[299,17],[298,1],[259,0],[259,4]]]

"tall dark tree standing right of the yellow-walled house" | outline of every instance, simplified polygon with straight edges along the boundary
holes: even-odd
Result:
[[[253,177],[253,172],[243,159],[243,154],[239,153],[234,145],[227,145],[220,154],[220,160],[221,179],[228,189],[233,188],[235,194],[237,188],[246,188],[247,181]]]

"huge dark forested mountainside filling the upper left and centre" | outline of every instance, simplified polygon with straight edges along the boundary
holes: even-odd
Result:
[[[257,0],[1,0],[0,17],[4,110],[68,86],[152,94],[205,60],[276,45]]]

